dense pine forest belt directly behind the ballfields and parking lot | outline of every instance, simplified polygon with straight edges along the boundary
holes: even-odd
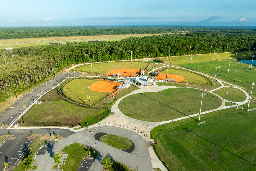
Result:
[[[231,31],[232,34],[234,32]],[[244,32],[247,34],[247,31]],[[130,37],[115,42],[77,42],[48,46],[21,47],[0,50],[0,102],[22,92],[36,82],[42,82],[70,64],[161,57],[169,55],[250,50],[256,45],[256,36],[223,36],[211,32],[163,34],[162,36]]]

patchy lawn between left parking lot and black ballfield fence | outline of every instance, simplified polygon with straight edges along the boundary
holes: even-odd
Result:
[[[78,79],[77,79],[78,80]],[[47,101],[52,97],[59,97],[55,90],[47,93],[42,99],[46,99],[40,105],[34,105],[23,116],[24,122],[85,122],[102,113],[103,109],[87,109],[77,105],[73,105],[67,101]],[[59,97],[60,98],[60,97]]]

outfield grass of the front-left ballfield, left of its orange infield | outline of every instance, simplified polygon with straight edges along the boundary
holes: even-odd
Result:
[[[72,80],[71,82],[69,82],[63,87],[63,93],[73,100],[77,100],[79,102],[87,104],[88,103],[87,96],[89,100],[89,90],[88,90],[88,87],[86,86],[90,86],[91,84],[98,81],[99,80],[87,80],[87,79]],[[90,89],[91,103],[105,94],[106,92],[98,92]]]

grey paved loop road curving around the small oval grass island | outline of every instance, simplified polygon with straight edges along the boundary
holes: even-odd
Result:
[[[94,138],[94,134],[98,132],[126,137],[133,141],[135,144],[135,149],[133,152],[127,153],[97,141]],[[131,167],[132,169],[136,168],[136,170],[139,171],[153,171],[150,155],[148,152],[149,144],[146,143],[143,137],[141,137],[138,133],[127,129],[109,126],[100,126],[97,128],[86,129],[55,143],[53,146],[51,146],[47,153],[42,155],[43,157],[40,157],[40,161],[37,161],[38,168],[36,170],[53,170],[52,167],[55,164],[53,162],[52,154],[54,152],[59,152],[63,147],[73,142],[91,146],[92,148],[94,148],[94,143],[96,143],[96,150],[98,150],[99,155],[94,160],[88,171],[102,170],[103,166],[100,164],[100,162],[105,156],[109,156],[112,161],[121,162]]]

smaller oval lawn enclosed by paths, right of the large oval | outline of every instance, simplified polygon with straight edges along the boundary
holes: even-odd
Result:
[[[213,91],[213,93],[218,94],[220,97],[233,102],[242,102],[246,100],[246,95],[243,91],[232,87],[223,87]]]

